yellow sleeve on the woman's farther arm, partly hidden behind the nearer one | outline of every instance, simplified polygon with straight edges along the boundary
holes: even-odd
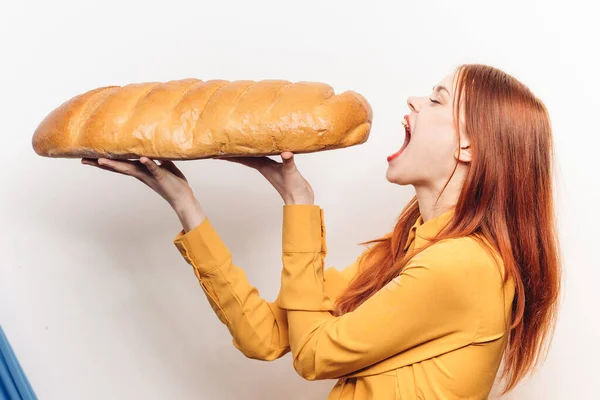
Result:
[[[233,345],[249,358],[270,361],[290,351],[287,313],[279,298],[270,302],[251,285],[208,217],[194,229],[180,231],[174,244],[193,267],[211,308],[232,335]],[[342,271],[325,271],[325,290],[335,297],[356,271],[356,262]]]

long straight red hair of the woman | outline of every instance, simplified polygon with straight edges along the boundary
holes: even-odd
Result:
[[[455,127],[458,136],[462,108],[472,161],[453,218],[424,247],[405,252],[403,245],[419,217],[413,197],[391,235],[360,243],[374,245],[336,300],[336,314],[354,310],[398,276],[410,258],[437,241],[472,236],[484,246],[489,243],[491,248],[486,248],[503,260],[505,282],[511,277],[515,283],[501,373],[502,379],[507,378],[505,394],[547,355],[556,325],[561,256],[554,215],[552,131],[544,104],[514,77],[480,64],[461,65],[456,72]]]

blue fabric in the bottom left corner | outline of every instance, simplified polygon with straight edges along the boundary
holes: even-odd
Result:
[[[37,400],[1,326],[0,400]]]

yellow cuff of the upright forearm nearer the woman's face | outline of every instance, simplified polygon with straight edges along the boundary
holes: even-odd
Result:
[[[327,253],[323,210],[314,204],[283,206],[283,253]]]

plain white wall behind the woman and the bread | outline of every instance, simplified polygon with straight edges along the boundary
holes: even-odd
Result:
[[[63,101],[105,85],[321,81],[374,110],[361,146],[298,155],[325,210],[328,266],[391,230],[411,186],[385,179],[409,95],[461,63],[496,66],[548,106],[565,295],[552,351],[508,399],[597,398],[600,32],[584,1],[11,1],[0,6],[0,323],[41,399],[325,399],[291,355],[245,358],[172,240],[168,205],[133,178],[37,156]],[[279,157],[276,159],[280,160]],[[178,164],[261,295],[281,269],[282,200],[257,172]],[[515,238],[518,240],[518,238]]]

